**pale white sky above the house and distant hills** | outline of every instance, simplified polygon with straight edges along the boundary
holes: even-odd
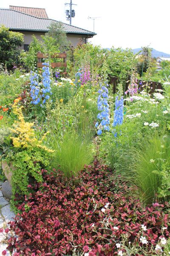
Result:
[[[48,17],[69,23],[65,10],[70,0],[0,0],[0,8],[45,8]],[[96,32],[89,40],[104,48],[152,47],[170,54],[170,0],[72,0],[72,25]],[[88,17],[97,17],[94,21]]]

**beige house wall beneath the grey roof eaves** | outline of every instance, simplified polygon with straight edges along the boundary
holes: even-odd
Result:
[[[32,35],[35,35],[37,39],[42,40],[41,35],[45,35],[43,32],[27,32],[23,31],[24,34],[24,44],[30,44],[32,41]],[[81,41],[82,44],[85,44],[85,36],[86,35],[74,35],[74,34],[67,34],[68,41],[71,41],[71,44],[75,47]],[[24,46],[21,47],[24,49]]]

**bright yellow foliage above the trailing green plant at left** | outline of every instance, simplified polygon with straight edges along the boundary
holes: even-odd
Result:
[[[40,147],[48,152],[54,152],[53,150],[42,145],[42,141],[45,139],[46,134],[42,137],[42,140],[38,141],[34,129],[32,128],[34,123],[25,122],[22,107],[18,107],[19,100],[15,100],[12,105],[13,113],[18,117],[18,121],[15,121],[11,131],[16,137],[11,137],[14,147],[16,148],[33,148]]]

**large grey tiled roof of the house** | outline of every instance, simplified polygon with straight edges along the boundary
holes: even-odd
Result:
[[[0,9],[0,25],[3,24],[11,30],[26,30],[37,32],[48,32],[51,22],[57,20],[34,17],[11,9]],[[65,32],[68,34],[96,35],[96,33],[62,23]]]

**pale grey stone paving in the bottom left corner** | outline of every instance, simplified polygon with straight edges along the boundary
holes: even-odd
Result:
[[[5,229],[8,227],[8,222],[13,220],[15,214],[10,209],[9,201],[3,197],[1,191],[2,184],[3,182],[0,182],[0,228]],[[7,247],[6,237],[8,235],[5,236],[4,233],[5,232],[0,233],[0,255],[2,255],[3,250],[6,250]],[[8,250],[6,250],[6,256],[11,256],[11,253]]]

